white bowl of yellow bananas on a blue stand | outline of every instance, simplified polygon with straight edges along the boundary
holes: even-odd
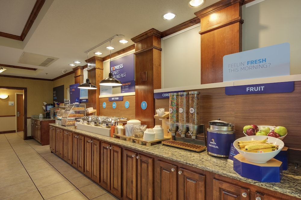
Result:
[[[266,163],[284,147],[284,142],[271,136],[246,136],[233,142],[234,148],[246,160],[253,163]]]

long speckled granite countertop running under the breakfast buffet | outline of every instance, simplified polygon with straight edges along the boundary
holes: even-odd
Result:
[[[136,144],[124,139],[102,136],[99,134],[78,130],[75,126],[61,126],[51,124],[52,126],[67,129],[76,133],[91,136],[97,139],[104,140],[124,148],[131,148],[137,151],[142,151],[147,154],[152,154],[178,163],[189,165],[198,169],[213,172],[249,184],[253,184],[262,188],[277,191],[289,196],[301,198],[301,169],[295,169],[293,164],[289,164],[288,170],[283,171],[283,177],[280,183],[266,183],[254,181],[249,178],[241,177],[233,170],[233,164],[227,161],[227,158],[215,157],[207,154],[207,151],[195,152],[181,148],[174,148],[167,145],[156,144],[147,147],[146,145]]]

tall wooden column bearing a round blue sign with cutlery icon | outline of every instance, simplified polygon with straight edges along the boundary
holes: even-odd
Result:
[[[135,112],[136,119],[154,127],[154,89],[161,88],[161,32],[146,31],[131,40],[135,43]],[[141,103],[147,108],[143,110]]]

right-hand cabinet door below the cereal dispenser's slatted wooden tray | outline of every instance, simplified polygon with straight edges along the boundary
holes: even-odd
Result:
[[[205,199],[205,176],[180,168],[178,171],[178,199]]]

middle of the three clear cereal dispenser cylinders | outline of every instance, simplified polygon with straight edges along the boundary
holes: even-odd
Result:
[[[189,92],[179,92],[179,123],[189,123]]]

